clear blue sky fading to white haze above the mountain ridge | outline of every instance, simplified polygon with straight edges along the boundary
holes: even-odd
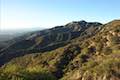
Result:
[[[120,0],[0,0],[0,29],[53,27],[120,19]]]

